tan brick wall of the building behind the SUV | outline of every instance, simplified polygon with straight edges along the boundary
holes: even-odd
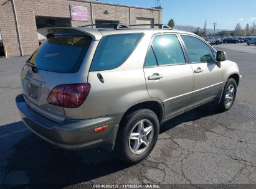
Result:
[[[21,47],[24,55],[31,55],[38,47],[35,16],[70,17],[70,5],[88,7],[88,21],[71,21],[73,27],[95,23],[95,20],[120,21],[124,24],[136,24],[136,17],[153,18],[154,23],[161,22],[161,11],[139,7],[117,6],[102,2],[69,0],[14,0],[16,4],[17,22]],[[108,10],[109,14],[104,14]],[[160,21],[159,21],[160,19]],[[8,55],[19,56],[19,38],[12,1],[0,0],[0,30],[2,41],[7,45]]]

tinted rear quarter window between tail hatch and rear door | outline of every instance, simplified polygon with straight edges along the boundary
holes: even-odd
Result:
[[[93,58],[90,71],[119,67],[135,49],[143,34],[118,34],[103,37]]]

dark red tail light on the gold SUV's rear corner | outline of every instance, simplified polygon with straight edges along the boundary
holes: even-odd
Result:
[[[77,108],[87,98],[90,84],[70,84],[56,86],[47,98],[49,104],[64,108]]]

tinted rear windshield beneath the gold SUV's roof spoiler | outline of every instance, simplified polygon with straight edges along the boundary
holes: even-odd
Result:
[[[79,70],[92,42],[87,35],[52,35],[29,58],[41,70],[74,73]]]

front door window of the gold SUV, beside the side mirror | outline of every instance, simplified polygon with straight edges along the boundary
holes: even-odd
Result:
[[[190,62],[208,62],[213,61],[211,48],[202,40],[189,35],[181,35],[189,54]]]

